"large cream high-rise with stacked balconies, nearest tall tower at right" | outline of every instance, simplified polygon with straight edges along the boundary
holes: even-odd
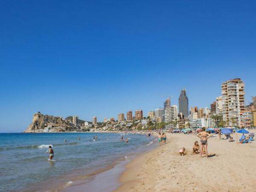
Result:
[[[244,112],[244,81],[239,78],[221,84],[222,116],[228,126],[241,127],[241,115]]]

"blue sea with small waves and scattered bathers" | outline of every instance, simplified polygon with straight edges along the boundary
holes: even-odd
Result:
[[[93,140],[95,136],[97,140]],[[154,137],[121,132],[0,133],[0,191],[65,191],[74,183],[92,182],[156,144]],[[53,160],[47,153],[49,145],[54,150]]]

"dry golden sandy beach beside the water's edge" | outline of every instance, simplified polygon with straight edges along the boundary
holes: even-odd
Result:
[[[165,145],[128,163],[116,192],[256,191],[256,141],[237,144],[215,136],[208,140],[212,157],[201,158],[192,154],[198,137],[168,134]],[[181,147],[187,150],[183,157]]]

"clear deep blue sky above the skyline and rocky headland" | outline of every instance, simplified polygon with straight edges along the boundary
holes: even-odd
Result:
[[[256,1],[0,1],[0,132],[35,112],[144,114],[185,88],[209,107],[239,77],[256,95]]]

